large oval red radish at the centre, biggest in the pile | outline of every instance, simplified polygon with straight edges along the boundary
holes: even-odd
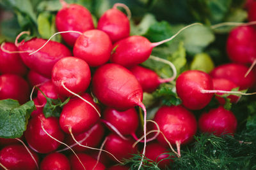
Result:
[[[143,92],[135,76],[118,64],[99,67],[92,78],[93,94],[106,106],[127,110],[141,106]]]

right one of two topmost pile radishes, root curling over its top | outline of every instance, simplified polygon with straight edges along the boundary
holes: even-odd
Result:
[[[118,5],[119,3],[116,3],[113,8],[106,11],[99,18],[97,25],[97,29],[106,32],[112,42],[127,38],[130,34],[129,18],[116,8]]]

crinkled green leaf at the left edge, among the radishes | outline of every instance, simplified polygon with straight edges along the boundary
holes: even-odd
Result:
[[[33,101],[20,106],[18,101],[0,101],[0,138],[20,138],[28,125],[28,119],[35,110]]]

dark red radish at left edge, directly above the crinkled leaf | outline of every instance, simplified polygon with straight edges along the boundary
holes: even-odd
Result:
[[[20,104],[29,100],[29,85],[17,74],[2,74],[0,76],[0,100],[15,99]]]

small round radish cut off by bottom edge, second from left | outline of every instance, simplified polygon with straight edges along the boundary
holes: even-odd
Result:
[[[49,153],[40,164],[41,170],[70,170],[70,163],[67,157],[62,153]]]

